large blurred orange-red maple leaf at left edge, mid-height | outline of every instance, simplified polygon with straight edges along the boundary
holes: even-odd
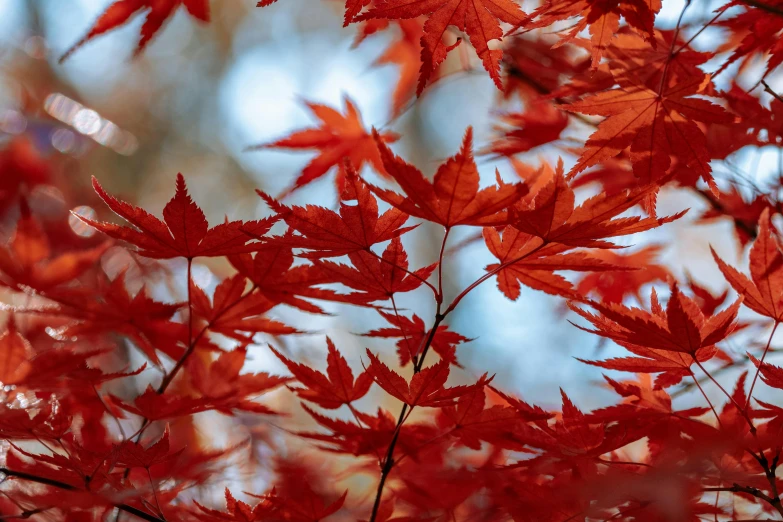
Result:
[[[53,256],[49,239],[38,220],[30,212],[27,200],[20,201],[20,218],[8,245],[0,247],[0,274],[2,281],[12,288],[29,286],[46,291],[70,283],[95,263],[110,246],[109,242],[82,251]]]

